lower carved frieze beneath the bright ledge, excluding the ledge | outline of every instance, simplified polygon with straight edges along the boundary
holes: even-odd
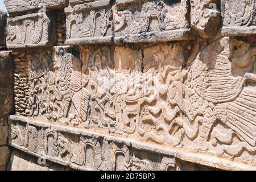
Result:
[[[17,119],[10,120],[11,146],[55,163],[80,170],[175,169],[174,157],[152,157],[152,152],[117,138]]]

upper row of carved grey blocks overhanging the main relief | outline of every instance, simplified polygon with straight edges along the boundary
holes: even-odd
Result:
[[[7,19],[7,47],[55,46],[54,16],[47,9],[65,8],[66,44],[143,43],[256,34],[256,0],[5,0],[10,14],[39,10]],[[190,7],[191,8],[190,8]],[[45,12],[44,12],[45,11]],[[53,34],[53,35],[51,35]]]

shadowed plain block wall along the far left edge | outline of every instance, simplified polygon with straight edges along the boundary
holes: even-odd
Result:
[[[6,49],[7,13],[0,10],[0,170],[6,170],[10,148],[8,147],[8,117],[12,114],[13,101],[13,59]]]

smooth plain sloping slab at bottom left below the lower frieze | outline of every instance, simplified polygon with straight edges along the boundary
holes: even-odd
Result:
[[[44,163],[45,162],[45,163]],[[13,150],[10,157],[8,171],[69,171],[60,164],[44,161],[19,150]]]

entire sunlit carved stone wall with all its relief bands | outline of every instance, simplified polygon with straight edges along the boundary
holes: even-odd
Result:
[[[255,0],[5,4],[9,169],[256,169]]]

